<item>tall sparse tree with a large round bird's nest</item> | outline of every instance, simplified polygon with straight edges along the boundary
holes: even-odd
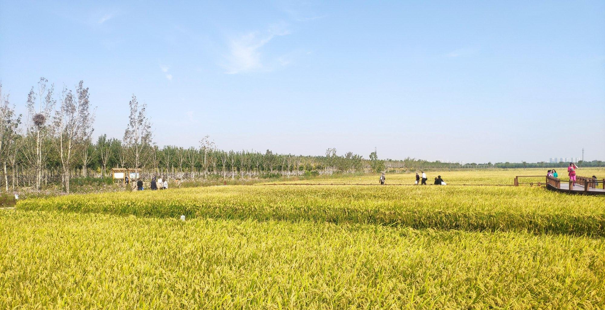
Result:
[[[47,87],[48,80],[44,77],[38,81],[38,93],[31,87],[27,95],[27,137],[24,145],[24,157],[36,174],[36,189],[42,189],[42,170],[45,167],[48,152],[44,148],[47,142],[47,121],[53,111],[56,100],[53,98],[54,84]],[[36,107],[37,105],[37,107]]]

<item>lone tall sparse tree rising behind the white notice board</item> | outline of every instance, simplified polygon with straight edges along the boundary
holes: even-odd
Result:
[[[124,145],[128,160],[134,168],[135,176],[139,173],[140,165],[146,161],[151,150],[151,123],[146,114],[146,104],[139,105],[137,97],[132,94],[128,103],[130,115],[128,126],[124,132]]]

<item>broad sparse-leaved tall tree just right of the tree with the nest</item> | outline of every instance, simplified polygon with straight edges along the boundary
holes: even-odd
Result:
[[[80,81],[76,87],[76,96],[71,90],[63,89],[59,109],[53,118],[54,146],[59,153],[63,190],[70,192],[70,174],[73,156],[82,151],[87,157],[90,138],[93,134],[94,113],[90,111],[88,87]],[[85,162],[86,159],[83,160]],[[89,160],[90,162],[90,160]],[[84,165],[84,171],[86,166]],[[85,173],[86,176],[86,173]]]

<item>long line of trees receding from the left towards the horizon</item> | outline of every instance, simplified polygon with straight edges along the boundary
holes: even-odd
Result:
[[[521,168],[511,163],[460,165],[410,157],[380,160],[376,152],[364,159],[352,152],[338,155],[335,148],[328,148],[322,156],[276,154],[270,150],[224,151],[209,136],[202,137],[195,147],[160,147],[153,141],[146,104],[140,104],[134,94],[128,102],[122,139],[106,134],[93,139],[94,108],[83,81],[57,93],[54,84],[49,85],[41,77],[31,87],[26,105],[25,116],[16,114],[15,105],[10,104],[10,96],[2,92],[0,85],[0,164],[5,191],[19,186],[41,190],[48,183],[60,183],[69,193],[72,177],[110,177],[110,169],[117,167],[134,170],[141,177],[159,174],[180,179]],[[520,165],[528,168],[525,162]]]

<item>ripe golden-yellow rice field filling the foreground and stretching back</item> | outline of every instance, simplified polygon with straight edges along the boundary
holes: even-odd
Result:
[[[0,223],[0,309],[605,308],[604,197],[543,187],[71,195],[22,200]]]

